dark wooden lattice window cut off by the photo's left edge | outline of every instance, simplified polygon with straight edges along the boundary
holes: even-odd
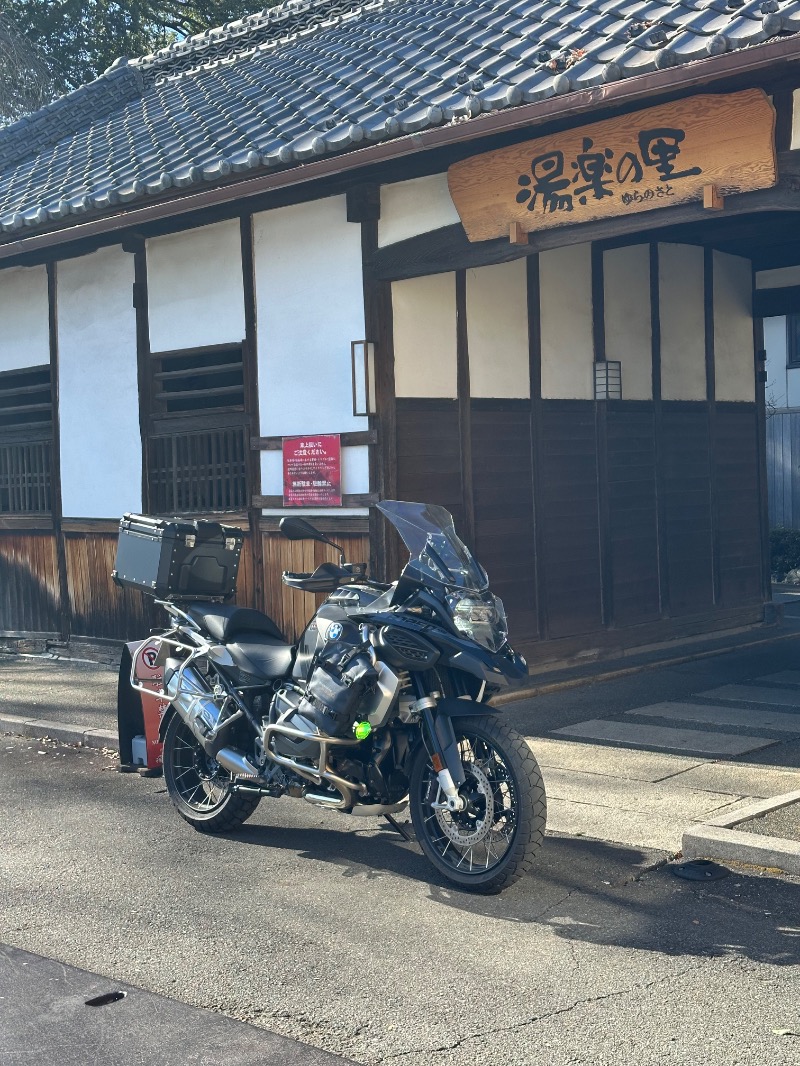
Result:
[[[48,514],[51,466],[50,367],[0,373],[0,514]]]

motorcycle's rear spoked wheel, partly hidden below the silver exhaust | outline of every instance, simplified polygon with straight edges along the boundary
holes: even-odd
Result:
[[[230,774],[206,755],[177,712],[164,736],[164,781],[180,817],[201,833],[235,829],[261,798],[255,792],[234,792]]]

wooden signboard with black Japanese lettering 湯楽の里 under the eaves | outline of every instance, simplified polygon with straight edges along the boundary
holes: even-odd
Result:
[[[470,241],[722,197],[777,181],[774,108],[759,88],[693,96],[453,164]],[[705,194],[705,195],[704,195]]]

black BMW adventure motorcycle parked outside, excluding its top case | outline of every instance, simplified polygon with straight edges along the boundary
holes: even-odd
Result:
[[[410,806],[416,839],[445,878],[499,892],[530,869],[546,821],[537,761],[487,702],[527,664],[450,514],[378,507],[410,552],[391,584],[346,562],[304,519],[282,519],[289,539],[339,552],[338,565],[283,575],[292,588],[326,594],[297,646],[258,611],[157,600],[170,616],[156,637],[166,789],[204,833],[227,833],[263,796],[288,795],[384,817],[410,839],[394,818]],[[131,684],[153,695],[135,662]]]

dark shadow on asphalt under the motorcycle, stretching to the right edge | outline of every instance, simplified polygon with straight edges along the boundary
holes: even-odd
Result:
[[[539,925],[573,943],[800,964],[800,922],[788,917],[798,914],[796,885],[734,871],[711,889],[673,877],[663,852],[551,834],[528,874],[498,895],[479,895],[439,877],[417,843],[388,825],[251,824],[227,839],[327,862],[345,878],[415,882],[427,905]]]

